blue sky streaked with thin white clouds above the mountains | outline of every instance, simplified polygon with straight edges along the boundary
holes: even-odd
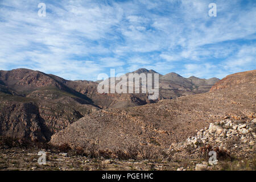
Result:
[[[97,80],[110,68],[201,78],[256,69],[254,0],[0,0],[0,35],[0,69],[68,80]]]

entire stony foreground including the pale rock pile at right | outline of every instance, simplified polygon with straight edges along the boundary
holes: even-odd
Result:
[[[185,142],[173,143],[165,158],[145,160],[104,159],[42,148],[0,150],[0,170],[256,170],[256,119],[249,122],[225,119],[211,123]],[[46,164],[39,164],[38,152],[46,151]],[[209,164],[209,151],[216,151],[217,164]]]

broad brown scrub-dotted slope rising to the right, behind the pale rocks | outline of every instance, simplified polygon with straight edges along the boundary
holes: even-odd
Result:
[[[93,144],[103,151],[127,151],[131,146],[168,151],[172,143],[196,135],[211,122],[228,118],[251,122],[256,117],[255,74],[256,71],[251,71],[228,76],[237,83],[246,78],[243,86],[230,84],[229,89],[90,113],[53,135],[51,143],[69,144],[73,148]]]

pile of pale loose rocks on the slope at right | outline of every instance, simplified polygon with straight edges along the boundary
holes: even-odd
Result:
[[[230,155],[247,158],[255,154],[256,118],[250,121],[225,119],[210,123],[185,142],[172,143],[169,152],[175,158],[200,158],[201,147],[212,146],[228,151]]]

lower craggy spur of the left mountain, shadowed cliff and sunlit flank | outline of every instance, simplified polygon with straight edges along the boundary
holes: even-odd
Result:
[[[89,109],[86,105],[1,100],[0,135],[47,142],[52,134],[92,111]]]

